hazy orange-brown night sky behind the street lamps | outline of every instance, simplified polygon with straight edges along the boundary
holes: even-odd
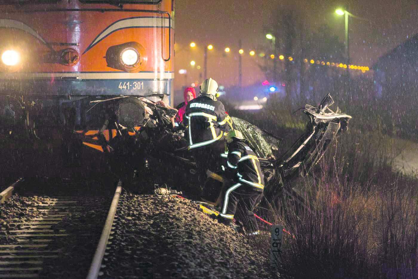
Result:
[[[208,76],[223,85],[238,83],[238,41],[242,40],[242,82],[251,85],[264,80],[257,62],[248,52],[265,41],[263,26],[271,22],[272,11],[293,9],[303,15],[305,26],[315,31],[326,23],[340,41],[344,41],[344,16],[334,12],[348,4],[348,11],[367,21],[350,18],[349,47],[353,64],[372,66],[374,62],[398,44],[418,33],[418,2],[411,0],[177,0],[176,1],[176,78],[175,89],[201,82],[203,49],[213,44],[208,55]],[[196,42],[190,49],[189,43]],[[231,52],[225,55],[224,48]],[[315,57],[306,57],[315,58]],[[196,61],[193,68],[189,62]],[[196,67],[201,66],[198,70]],[[187,76],[178,70],[186,69]]]

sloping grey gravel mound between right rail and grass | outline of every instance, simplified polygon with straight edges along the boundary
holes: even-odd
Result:
[[[188,199],[123,194],[100,278],[282,278]]]

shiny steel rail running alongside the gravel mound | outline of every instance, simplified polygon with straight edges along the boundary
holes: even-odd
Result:
[[[112,231],[113,220],[115,219],[116,207],[119,202],[120,192],[122,191],[122,181],[117,183],[115,195],[113,196],[112,204],[110,204],[109,213],[107,214],[106,222],[102,235],[97,245],[96,253],[94,253],[93,261],[87,274],[87,279],[96,279],[99,276],[100,267],[104,252],[106,251],[107,241],[109,240],[110,233]]]

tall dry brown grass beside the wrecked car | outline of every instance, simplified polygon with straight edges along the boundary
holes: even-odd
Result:
[[[339,137],[299,181],[306,207],[273,210],[294,236],[284,234],[283,266],[297,278],[418,278],[418,180],[392,167],[407,143],[355,126]],[[255,245],[268,256],[270,240]]]

